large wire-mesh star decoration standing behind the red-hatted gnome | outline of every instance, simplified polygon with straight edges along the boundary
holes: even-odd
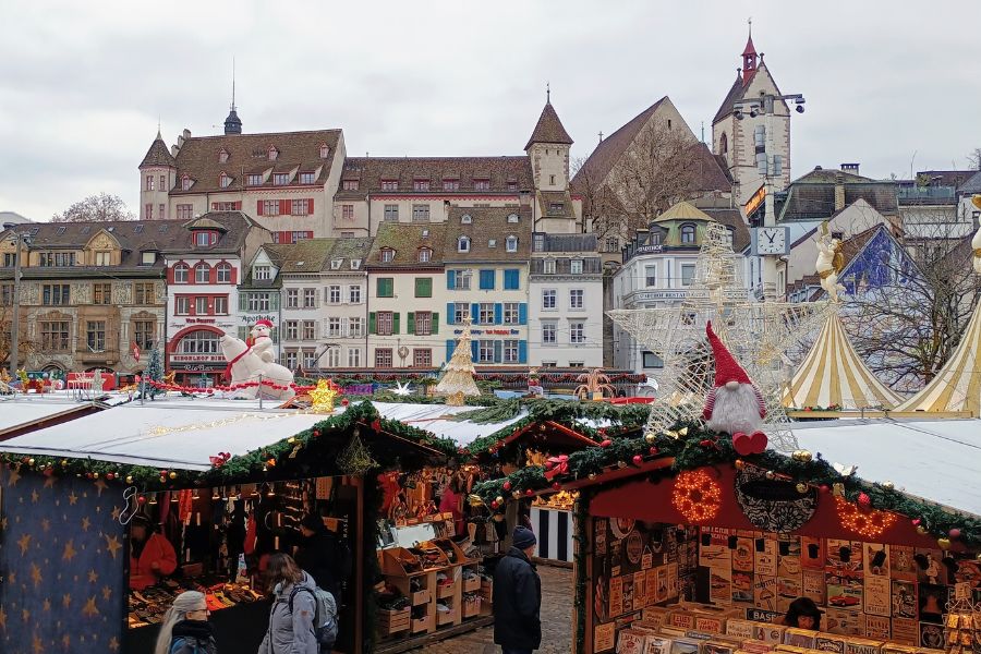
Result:
[[[681,421],[699,421],[714,386],[715,362],[705,340],[712,326],[760,388],[766,403],[763,431],[777,450],[799,449],[782,396],[785,379],[775,363],[788,347],[820,326],[828,303],[751,301],[725,226],[710,222],[695,263],[695,278],[680,306],[632,308],[607,315],[664,362],[664,389],[646,431],[659,433]]]

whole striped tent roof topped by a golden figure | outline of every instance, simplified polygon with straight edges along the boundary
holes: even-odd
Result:
[[[872,374],[851,347],[841,320],[831,314],[818,341],[784,392],[785,407],[843,409],[891,409],[901,398]]]

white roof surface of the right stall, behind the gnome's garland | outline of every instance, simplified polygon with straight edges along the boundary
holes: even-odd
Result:
[[[800,447],[870,482],[981,516],[981,420],[795,423]]]

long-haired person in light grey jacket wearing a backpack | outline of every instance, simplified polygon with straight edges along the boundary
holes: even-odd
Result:
[[[268,574],[272,608],[258,654],[318,654],[320,645],[314,633],[317,604],[313,577],[303,571],[293,557],[281,552],[269,557]]]

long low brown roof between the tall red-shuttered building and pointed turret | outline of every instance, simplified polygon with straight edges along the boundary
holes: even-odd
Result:
[[[343,181],[358,180],[356,191],[344,191]],[[382,182],[398,182],[396,190],[383,190]],[[489,191],[475,191],[475,180],[491,182]],[[415,191],[415,182],[427,181],[429,190]],[[458,191],[445,191],[444,181],[459,183]],[[534,186],[531,160],[521,157],[348,157],[337,199],[363,199],[368,193],[516,193]]]

